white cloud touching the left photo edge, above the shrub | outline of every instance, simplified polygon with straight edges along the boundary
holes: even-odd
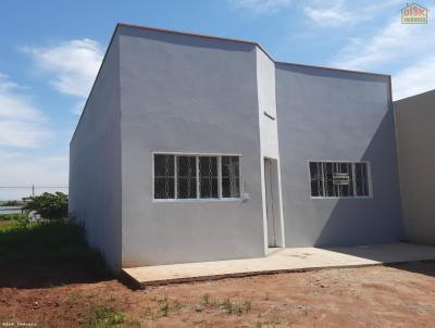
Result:
[[[0,146],[35,148],[51,136],[44,114],[0,73]]]

